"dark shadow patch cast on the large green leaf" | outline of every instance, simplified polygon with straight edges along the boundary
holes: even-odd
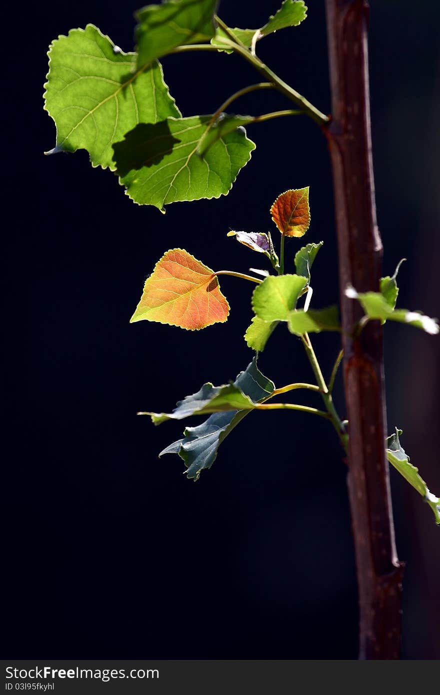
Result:
[[[180,142],[170,132],[168,121],[140,123],[113,145],[113,161],[117,174],[126,176],[133,169],[158,164]]]

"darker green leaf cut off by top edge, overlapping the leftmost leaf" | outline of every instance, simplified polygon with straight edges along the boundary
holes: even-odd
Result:
[[[178,46],[209,41],[216,6],[217,0],[168,0],[138,10],[138,69]]]

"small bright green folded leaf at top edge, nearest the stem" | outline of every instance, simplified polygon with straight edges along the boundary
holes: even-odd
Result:
[[[288,26],[298,26],[307,17],[307,7],[305,6],[303,0],[284,0],[282,6],[279,8],[275,15],[271,15],[268,22],[259,29],[239,29],[239,28],[229,28],[229,31],[242,43],[245,47],[250,48],[252,46],[252,39],[256,35],[254,40],[259,40],[263,36],[267,36],[274,31],[279,29],[284,29]],[[227,33],[219,26],[215,32],[215,37],[211,39],[211,44],[218,47],[220,51],[225,51],[225,53],[233,53],[234,51],[229,48],[225,48],[225,44],[222,44],[222,38],[229,38]]]

